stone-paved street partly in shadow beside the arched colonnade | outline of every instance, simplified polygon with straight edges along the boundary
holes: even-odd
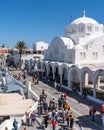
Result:
[[[31,77],[28,76],[27,80],[31,80]],[[53,88],[53,83],[47,80],[43,80],[43,81],[39,81],[39,85],[32,85],[32,89],[38,94],[41,94],[42,89],[45,89],[45,92],[48,96],[49,99],[52,99],[53,97],[55,98],[55,100],[57,101],[58,98],[60,97],[60,92],[58,92],[57,90],[55,90]],[[62,90],[62,91],[66,91],[66,90]],[[82,123],[84,130],[104,130],[104,128],[102,128],[102,123],[101,123],[101,115],[100,115],[100,105],[88,100],[88,99],[84,99],[82,96],[77,95],[74,92],[69,92],[66,91],[68,98],[68,104],[71,106],[71,111],[75,114],[75,127],[73,130],[79,130],[78,124]],[[95,116],[95,122],[92,122],[91,119],[89,119],[89,104],[93,104],[96,108],[96,116]],[[37,120],[41,123],[42,119],[37,118]],[[19,130],[24,130],[23,126],[21,127]],[[42,128],[40,127],[39,123],[36,123],[36,127],[26,127],[27,130],[36,130],[36,129],[40,129],[42,130]],[[59,127],[57,127],[58,130]],[[48,127],[48,129],[50,129],[50,127]]]

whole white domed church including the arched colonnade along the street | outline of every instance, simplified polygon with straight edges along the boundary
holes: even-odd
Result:
[[[43,76],[56,80],[62,87],[88,98],[104,99],[104,26],[92,18],[75,19],[65,28],[64,37],[53,38],[38,62]]]

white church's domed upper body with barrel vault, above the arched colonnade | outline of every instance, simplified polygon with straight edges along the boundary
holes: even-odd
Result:
[[[46,60],[81,63],[104,63],[104,26],[92,18],[75,19],[66,26],[64,37],[53,38]]]

